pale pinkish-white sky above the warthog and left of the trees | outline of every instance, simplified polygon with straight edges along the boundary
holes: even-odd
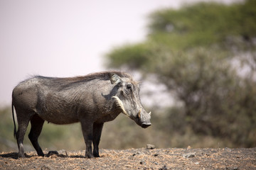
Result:
[[[0,0],[0,106],[32,75],[106,70],[104,55],[112,47],[144,40],[149,13],[194,1]]]

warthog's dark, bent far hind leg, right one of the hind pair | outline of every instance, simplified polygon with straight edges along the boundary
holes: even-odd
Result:
[[[38,137],[41,134],[43,128],[44,120],[38,115],[33,115],[31,118],[31,131],[29,132],[28,138],[31,140],[33,147],[36,149],[36,152],[39,156],[44,156],[41,147],[38,144]]]

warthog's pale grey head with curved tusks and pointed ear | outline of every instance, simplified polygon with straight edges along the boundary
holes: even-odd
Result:
[[[137,125],[147,128],[151,125],[151,112],[146,113],[139,98],[139,84],[127,77],[110,74],[110,81],[117,86],[117,93],[112,99],[125,115],[134,120]]]

